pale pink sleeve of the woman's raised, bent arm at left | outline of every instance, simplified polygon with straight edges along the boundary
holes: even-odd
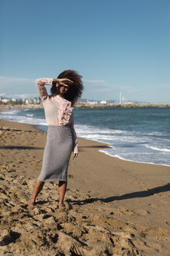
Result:
[[[37,87],[38,93],[40,94],[40,98],[42,99],[42,101],[44,101],[48,98],[47,90],[44,85],[45,84],[52,85],[53,80],[54,80],[53,78],[38,78],[38,79],[36,79],[36,87]]]

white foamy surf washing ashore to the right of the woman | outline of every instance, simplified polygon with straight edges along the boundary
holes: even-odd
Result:
[[[151,151],[154,148],[149,148],[146,144],[154,144],[153,135],[147,136],[147,133],[123,131],[123,130],[109,130],[99,129],[93,126],[75,126],[78,137],[84,137],[88,140],[95,140],[105,144],[108,144],[109,149],[99,150],[106,155],[110,155],[116,158],[120,158],[130,162],[141,162],[154,165],[166,165],[165,162],[169,162],[166,155],[162,155],[163,151],[166,153],[168,150],[161,148],[162,151],[158,151],[158,155],[153,154]],[[144,135],[143,135],[144,134]],[[154,134],[155,135],[155,134]],[[158,135],[158,134],[157,134]],[[161,144],[161,138],[158,140]],[[146,148],[147,147],[147,151]],[[160,150],[160,148],[158,148]],[[162,153],[161,153],[162,152]],[[115,154],[116,153],[116,154]],[[160,160],[159,160],[160,159]]]

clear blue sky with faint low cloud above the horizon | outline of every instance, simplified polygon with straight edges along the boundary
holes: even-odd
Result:
[[[83,76],[82,98],[170,102],[169,0],[0,0],[0,94]]]

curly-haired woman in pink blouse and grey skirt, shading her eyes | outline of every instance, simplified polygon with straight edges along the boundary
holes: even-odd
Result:
[[[46,84],[52,85],[51,95],[47,94]],[[71,106],[82,94],[82,76],[74,70],[65,70],[57,79],[37,79],[36,87],[43,101],[48,130],[42,169],[34,185],[33,196],[28,206],[33,207],[44,182],[59,180],[58,207],[64,208],[71,151],[74,152],[73,159],[78,157],[78,141]]]

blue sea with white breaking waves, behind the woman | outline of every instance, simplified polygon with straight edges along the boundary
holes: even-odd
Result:
[[[132,162],[170,166],[170,108],[74,108],[78,137],[109,145],[100,149]],[[1,119],[47,132],[42,108],[2,110]]]

